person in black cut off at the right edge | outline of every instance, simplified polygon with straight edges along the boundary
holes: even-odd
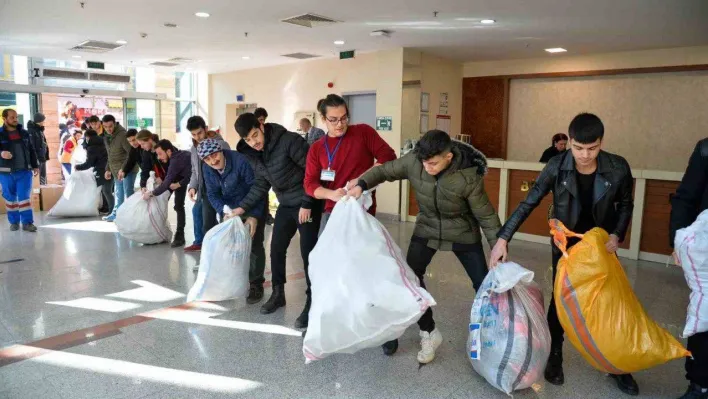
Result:
[[[676,231],[690,226],[708,209],[708,139],[698,142],[676,195],[671,200],[669,244],[674,247]],[[678,262],[677,262],[678,263]],[[708,331],[688,337],[686,379],[691,385],[681,399],[708,399]]]

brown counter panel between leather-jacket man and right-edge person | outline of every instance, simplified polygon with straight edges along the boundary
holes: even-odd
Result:
[[[672,250],[669,246],[671,204],[669,200],[670,196],[676,192],[678,185],[679,182],[647,180],[640,251],[671,254]]]

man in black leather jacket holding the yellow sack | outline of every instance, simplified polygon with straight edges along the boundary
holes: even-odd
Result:
[[[553,157],[541,171],[528,196],[519,204],[509,220],[499,230],[499,241],[490,254],[490,267],[501,259],[506,261],[507,243],[521,227],[543,197],[553,192],[554,217],[570,230],[585,233],[601,227],[610,234],[607,251],[617,251],[632,220],[634,179],[627,161],[602,151],[604,126],[600,118],[583,113],[576,116],[568,128],[570,151]],[[570,240],[569,247],[577,240]],[[553,246],[553,276],[561,252]],[[563,328],[556,313],[555,302],[548,308],[551,330],[551,356],[545,377],[554,385],[565,382],[563,375]],[[607,326],[613,328],[613,326]],[[614,375],[622,392],[638,395],[639,388],[630,374]]]

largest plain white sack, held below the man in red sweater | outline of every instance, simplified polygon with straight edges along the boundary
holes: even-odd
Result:
[[[307,362],[397,339],[435,305],[369,206],[369,193],[339,201],[310,253]]]

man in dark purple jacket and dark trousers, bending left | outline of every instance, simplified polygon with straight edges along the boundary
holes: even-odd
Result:
[[[169,164],[165,180],[152,191],[143,193],[143,199],[149,200],[167,190],[175,193],[175,212],[177,212],[177,231],[172,240],[172,248],[184,246],[184,225],[186,215],[184,199],[187,197],[187,185],[192,176],[192,157],[187,151],[180,151],[169,140],[160,140],[155,147],[157,158],[163,164]]]

